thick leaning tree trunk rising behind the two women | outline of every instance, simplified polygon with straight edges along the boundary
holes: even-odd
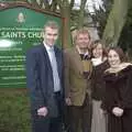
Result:
[[[129,0],[114,0],[109,14],[102,40],[108,46],[116,46],[127,21]]]

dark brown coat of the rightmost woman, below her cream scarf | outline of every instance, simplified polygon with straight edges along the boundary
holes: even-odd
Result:
[[[106,94],[102,108],[108,111],[108,132],[132,132],[132,66],[118,73],[105,73]],[[112,113],[122,108],[122,117]]]

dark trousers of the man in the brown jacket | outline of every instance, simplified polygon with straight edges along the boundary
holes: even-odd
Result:
[[[91,128],[91,102],[86,96],[84,105],[70,107],[70,131],[90,132]]]

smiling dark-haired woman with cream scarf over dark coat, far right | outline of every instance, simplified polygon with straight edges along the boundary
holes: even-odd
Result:
[[[132,132],[132,64],[127,63],[120,47],[109,48],[108,62],[102,102],[108,112],[108,132]]]

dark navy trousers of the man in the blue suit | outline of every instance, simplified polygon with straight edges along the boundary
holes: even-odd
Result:
[[[37,116],[36,111],[32,112],[32,131],[33,132],[62,132],[62,98],[59,92],[55,94],[56,105],[58,107],[58,117]]]

